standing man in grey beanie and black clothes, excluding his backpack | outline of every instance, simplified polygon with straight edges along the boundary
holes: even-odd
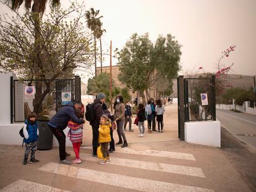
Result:
[[[103,109],[102,105],[105,102],[105,94],[104,93],[99,93],[98,96],[96,97],[95,101],[93,102],[93,112],[95,115],[95,119],[90,122],[92,125],[92,130],[93,130],[93,157],[97,157],[97,148],[98,148],[98,140],[99,140],[99,130],[98,128],[100,127],[100,117],[103,115]]]

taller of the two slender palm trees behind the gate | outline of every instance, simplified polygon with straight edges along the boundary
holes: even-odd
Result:
[[[92,30],[94,35],[94,57],[95,57],[95,77],[97,76],[97,66],[96,66],[96,34],[98,31],[98,28],[101,28],[101,22],[100,19],[103,16],[98,17],[100,10],[94,10],[91,8],[90,10],[87,10],[85,12],[85,17],[87,19],[87,27]]]

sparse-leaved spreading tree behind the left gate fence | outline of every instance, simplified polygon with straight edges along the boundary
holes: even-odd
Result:
[[[67,22],[66,16],[74,12],[78,16]],[[16,17],[0,17],[0,69],[4,72],[15,72],[19,77],[34,79],[40,77],[36,85],[33,102],[36,113],[40,112],[41,103],[51,91],[56,78],[72,75],[74,69],[90,66],[90,35],[85,33],[80,20],[83,18],[82,7],[70,7],[68,10],[54,9],[40,21],[41,30],[38,44],[40,60],[35,57],[34,23],[31,14]],[[11,18],[11,20],[10,20]],[[49,79],[48,81],[44,81]],[[46,89],[38,88],[45,86]]]

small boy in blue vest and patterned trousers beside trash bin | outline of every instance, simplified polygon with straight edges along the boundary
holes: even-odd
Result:
[[[25,120],[25,125],[23,127],[23,135],[23,141],[25,143],[25,154],[22,161],[23,165],[27,164],[30,151],[30,164],[38,162],[39,160],[35,159],[36,141],[39,135],[35,112],[28,113],[28,119]]]

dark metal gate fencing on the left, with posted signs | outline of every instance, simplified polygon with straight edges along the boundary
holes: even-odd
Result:
[[[40,117],[49,119],[67,102],[81,101],[80,77],[73,79],[60,80],[13,80],[11,78],[11,123],[24,122],[27,118],[27,111],[35,111],[35,96],[28,97],[25,88],[32,87],[38,90],[40,85],[40,94],[42,97],[40,105]],[[49,89],[45,92],[46,89]],[[31,90],[33,91],[33,90]]]

